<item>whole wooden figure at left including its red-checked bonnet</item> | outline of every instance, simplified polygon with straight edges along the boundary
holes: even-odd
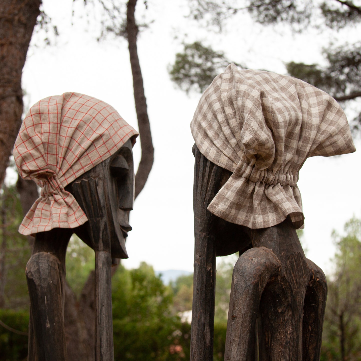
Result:
[[[95,251],[95,360],[114,360],[110,269],[112,258],[128,257],[137,135],[110,105],[79,93],[40,100],[25,117],[13,154],[20,175],[42,187],[19,227],[35,235],[26,266],[31,361],[67,360],[65,254],[73,233]]]

